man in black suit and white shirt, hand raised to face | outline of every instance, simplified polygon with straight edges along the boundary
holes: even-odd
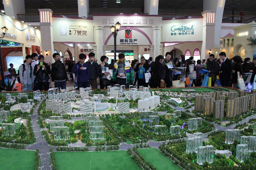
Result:
[[[229,80],[230,80],[230,65],[231,61],[230,59],[226,58],[226,53],[221,52],[219,54],[220,56],[220,83],[221,86],[229,86]]]

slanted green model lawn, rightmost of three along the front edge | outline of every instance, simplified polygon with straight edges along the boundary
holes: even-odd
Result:
[[[178,170],[181,169],[176,163],[164,156],[157,148],[138,149],[146,161],[150,162],[159,170]]]

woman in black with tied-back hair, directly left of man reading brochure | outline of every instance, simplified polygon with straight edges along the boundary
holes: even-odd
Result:
[[[164,82],[164,79],[162,79],[163,75],[163,61],[164,56],[159,55],[156,57],[155,65],[152,68],[152,76],[151,76],[151,88],[160,88],[160,84]]]

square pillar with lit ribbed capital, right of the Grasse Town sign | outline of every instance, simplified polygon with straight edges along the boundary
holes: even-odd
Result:
[[[209,50],[214,51],[214,28],[215,28],[215,12],[205,10],[203,15],[203,42],[201,50],[201,59],[209,58]]]

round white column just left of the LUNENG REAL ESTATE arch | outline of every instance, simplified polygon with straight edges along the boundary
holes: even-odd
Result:
[[[95,29],[96,29],[96,46],[97,46],[97,52],[96,57],[97,60],[100,60],[100,57],[103,56],[103,34],[102,34],[102,30],[103,30],[102,25],[96,25]],[[106,49],[106,48],[105,48]]]

